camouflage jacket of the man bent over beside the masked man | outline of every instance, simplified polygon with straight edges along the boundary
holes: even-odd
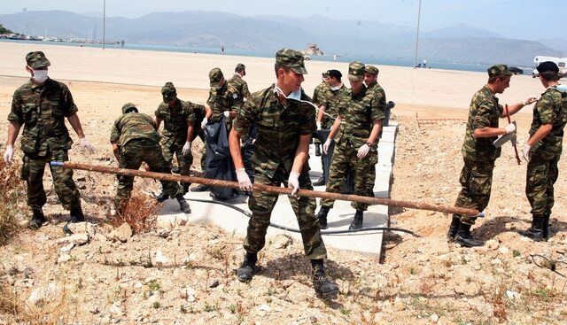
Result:
[[[141,112],[127,112],[114,121],[110,133],[110,142],[117,143],[119,147],[134,139],[149,139],[159,142],[156,122],[149,115]]]

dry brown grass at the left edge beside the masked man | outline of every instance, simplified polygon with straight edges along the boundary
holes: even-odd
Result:
[[[19,229],[16,205],[18,197],[23,195],[24,184],[18,171],[19,166],[6,165],[0,159],[0,245],[8,243]]]

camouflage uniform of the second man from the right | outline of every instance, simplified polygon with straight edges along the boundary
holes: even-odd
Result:
[[[498,128],[498,120],[503,107],[498,104],[488,86],[472,97],[470,101],[469,120],[462,143],[462,167],[459,182],[462,189],[456,199],[455,206],[476,209],[482,212],[490,199],[493,182],[494,161],[500,157],[501,148],[496,148],[493,141],[497,136],[475,138],[473,133],[477,128]],[[472,225],[476,217],[459,216],[461,222]]]

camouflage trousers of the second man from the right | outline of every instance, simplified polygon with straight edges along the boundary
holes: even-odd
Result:
[[[461,192],[454,203],[454,206],[476,209],[479,212],[485,210],[490,200],[490,192],[493,184],[494,162],[475,161],[464,159],[461,177]],[[477,220],[474,216],[462,216],[461,222],[473,225]]]

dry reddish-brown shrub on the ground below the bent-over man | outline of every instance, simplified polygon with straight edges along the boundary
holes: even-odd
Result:
[[[128,203],[123,206],[122,213],[118,213],[108,223],[117,228],[127,222],[134,234],[151,231],[156,228],[158,222],[158,205],[154,198],[135,190]]]

